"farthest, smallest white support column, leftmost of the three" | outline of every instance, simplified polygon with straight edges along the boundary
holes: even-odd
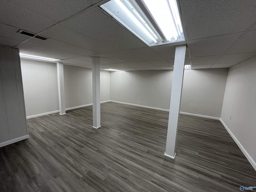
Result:
[[[65,92],[64,92],[64,70],[63,70],[63,63],[60,63],[60,62],[57,62],[57,77],[58,77],[60,115],[64,115],[66,114]]]

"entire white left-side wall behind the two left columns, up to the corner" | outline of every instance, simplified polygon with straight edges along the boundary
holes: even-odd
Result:
[[[21,60],[27,116],[59,110],[55,63]],[[92,70],[64,65],[66,108],[92,103]],[[110,72],[100,71],[101,101],[110,99]]]

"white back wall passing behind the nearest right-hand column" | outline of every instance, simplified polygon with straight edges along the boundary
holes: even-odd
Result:
[[[110,100],[169,109],[173,70],[110,73]],[[220,117],[228,69],[185,70],[181,111]],[[140,98],[140,100],[138,100]]]

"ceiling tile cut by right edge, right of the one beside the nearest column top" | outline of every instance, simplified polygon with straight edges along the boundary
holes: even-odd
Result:
[[[245,32],[225,54],[256,52],[256,30]]]

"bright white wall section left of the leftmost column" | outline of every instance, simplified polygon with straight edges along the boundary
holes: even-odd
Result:
[[[55,63],[21,59],[26,115],[59,110]]]

